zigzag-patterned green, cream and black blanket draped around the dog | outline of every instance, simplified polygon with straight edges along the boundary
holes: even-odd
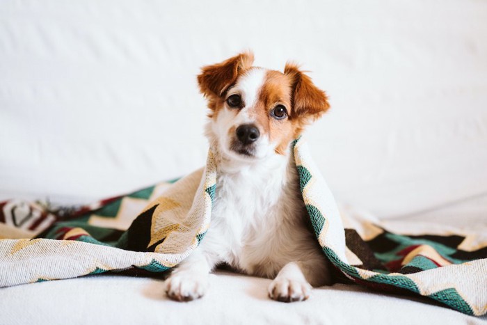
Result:
[[[486,314],[485,237],[418,229],[399,234],[377,220],[341,216],[305,142],[296,140],[292,148],[312,227],[338,278]],[[175,267],[205,240],[215,191],[209,152],[205,168],[177,182],[89,206],[53,211],[19,200],[0,203],[0,287]]]

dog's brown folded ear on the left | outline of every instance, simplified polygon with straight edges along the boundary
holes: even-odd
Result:
[[[198,84],[205,97],[221,97],[239,77],[239,74],[250,68],[254,62],[252,52],[244,52],[222,63],[207,65],[198,75]]]

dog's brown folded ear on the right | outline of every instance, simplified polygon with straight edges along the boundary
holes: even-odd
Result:
[[[330,108],[326,93],[314,86],[311,78],[301,72],[296,63],[286,63],[284,74],[292,80],[291,116],[308,116],[316,119]]]

